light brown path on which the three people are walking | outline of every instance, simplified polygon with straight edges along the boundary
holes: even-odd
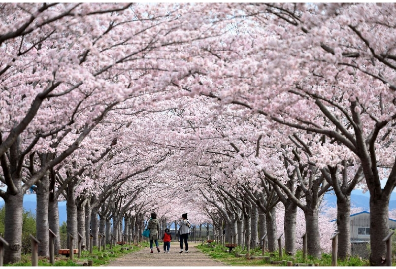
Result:
[[[227,264],[211,259],[195,246],[201,243],[188,242],[188,253],[180,251],[180,243],[172,242],[169,253],[163,253],[163,245],[159,245],[161,252],[150,253],[150,248],[127,254],[117,260],[110,261],[106,266],[227,266]]]

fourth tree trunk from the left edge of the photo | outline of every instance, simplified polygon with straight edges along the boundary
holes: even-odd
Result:
[[[68,197],[66,198],[66,212],[67,212],[67,232],[68,232],[68,248],[70,247],[70,238],[69,234],[71,234],[74,238],[73,248],[77,247],[77,205],[76,198],[74,196],[74,184],[73,182],[69,183],[68,188]]]

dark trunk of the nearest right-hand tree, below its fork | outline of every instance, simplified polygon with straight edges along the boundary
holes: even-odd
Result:
[[[389,233],[389,197],[370,195],[370,265],[385,266],[386,244],[382,240]]]

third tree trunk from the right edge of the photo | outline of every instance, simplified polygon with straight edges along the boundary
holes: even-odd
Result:
[[[320,234],[318,223],[318,210],[307,209],[304,212],[305,227],[307,232],[307,252],[308,255],[320,259],[322,257],[320,249]]]

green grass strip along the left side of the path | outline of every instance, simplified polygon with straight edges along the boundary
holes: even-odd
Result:
[[[121,246],[116,245],[113,246],[113,249],[110,250],[110,245],[106,245],[106,249],[98,251],[97,247],[92,248],[92,254],[89,253],[88,250],[83,250],[81,252],[81,258],[78,258],[77,254],[74,254],[73,261],[70,258],[59,255],[59,257],[55,257],[55,264],[52,265],[49,262],[48,258],[39,257],[38,265],[39,266],[83,266],[84,263],[87,263],[88,260],[93,261],[93,266],[100,266],[109,263],[111,260],[114,260],[118,257],[122,257],[125,254],[136,252],[141,250],[142,248],[148,247],[148,242],[139,243],[141,247],[133,246],[133,250],[129,248],[129,250],[121,250]],[[124,247],[129,247],[124,245]],[[31,255],[22,255],[21,261],[13,264],[4,264],[4,266],[31,266]]]

